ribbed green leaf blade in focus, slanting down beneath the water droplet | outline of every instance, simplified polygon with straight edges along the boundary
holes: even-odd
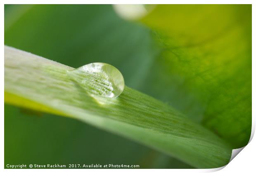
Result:
[[[127,86],[116,99],[92,98],[68,77],[67,70],[72,69],[5,47],[5,92],[19,100],[26,98],[23,102],[5,99],[32,109],[33,105],[26,104],[26,100],[38,103],[45,106],[44,110],[61,112],[125,136],[197,168],[216,168],[228,163],[231,148],[185,115]]]

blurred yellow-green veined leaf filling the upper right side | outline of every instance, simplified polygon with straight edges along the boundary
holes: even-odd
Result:
[[[168,101],[232,147],[247,145],[251,5],[158,5],[141,21],[156,30],[163,49],[145,93]]]

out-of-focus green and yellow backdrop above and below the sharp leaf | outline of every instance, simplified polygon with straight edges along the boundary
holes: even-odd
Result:
[[[162,5],[127,21],[111,5],[5,5],[5,45],[74,68],[114,65],[127,86],[238,148],[251,132],[250,15],[250,5]],[[77,120],[5,105],[5,165],[22,163],[192,168]]]

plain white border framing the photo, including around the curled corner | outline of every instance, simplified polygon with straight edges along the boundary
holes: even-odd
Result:
[[[168,1],[168,0],[108,0],[107,2],[104,0],[94,0],[88,1],[88,0],[2,0],[1,1],[2,7],[1,7],[1,26],[0,26],[0,33],[2,35],[2,39],[4,38],[4,4],[252,4],[252,133],[251,133],[251,138],[250,138],[250,143],[242,150],[242,152],[239,154],[238,157],[235,157],[227,166],[226,168],[222,169],[221,172],[223,173],[228,173],[228,172],[253,172],[255,171],[255,154],[256,154],[256,142],[255,139],[252,140],[252,137],[254,135],[255,131],[255,65],[256,65],[256,54],[255,54],[255,5],[256,3],[253,0],[176,0],[176,1]],[[0,133],[1,133],[1,142],[0,142],[0,161],[1,161],[1,169],[4,168],[4,41],[2,40],[2,49],[1,51],[1,58],[0,58],[0,64],[2,64],[2,68],[0,70],[1,75],[0,75],[0,89],[1,89],[1,105],[0,105],[0,111],[2,112],[1,114],[1,126],[0,126]],[[217,169],[138,169],[135,170],[133,169],[132,171],[142,171],[142,172],[153,172],[153,171],[163,171],[163,172],[212,172],[212,171],[217,171]],[[19,171],[19,172],[34,172],[35,170],[33,169],[5,169],[4,171],[6,172],[14,172],[14,171]],[[37,172],[70,172],[70,171],[76,171],[76,172],[85,172],[85,171],[90,171],[90,172],[97,172],[97,171],[106,171],[106,172],[130,172],[131,170],[119,170],[119,169],[102,169],[102,170],[97,170],[97,169],[90,169],[90,170],[84,170],[84,169],[37,169]]]

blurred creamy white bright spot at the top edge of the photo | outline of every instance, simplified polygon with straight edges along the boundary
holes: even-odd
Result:
[[[148,13],[141,4],[115,4],[113,7],[120,17],[128,20],[140,19]]]

